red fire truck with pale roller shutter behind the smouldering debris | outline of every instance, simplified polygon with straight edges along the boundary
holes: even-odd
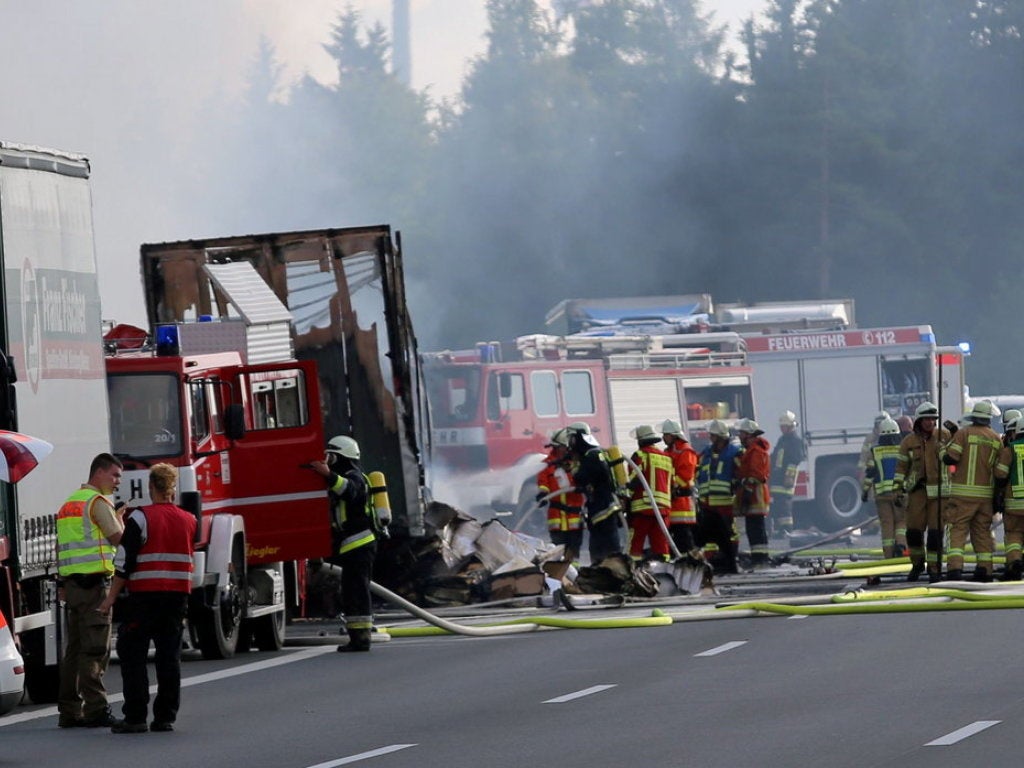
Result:
[[[713,419],[755,416],[752,371],[735,333],[534,335],[424,355],[438,497],[475,514],[531,507],[545,444],[587,422],[632,453],[638,424],[679,419],[697,447]]]

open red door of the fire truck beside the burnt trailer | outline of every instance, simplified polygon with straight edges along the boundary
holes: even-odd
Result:
[[[303,467],[324,457],[314,364],[253,366],[240,375],[240,386],[246,432],[233,441],[222,471],[231,487],[225,511],[245,517],[249,562],[327,557],[327,487]]]

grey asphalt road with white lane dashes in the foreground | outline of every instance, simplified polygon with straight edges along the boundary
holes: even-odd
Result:
[[[190,660],[174,733],[58,730],[23,707],[0,765],[1016,766],[1021,623],[764,617]]]

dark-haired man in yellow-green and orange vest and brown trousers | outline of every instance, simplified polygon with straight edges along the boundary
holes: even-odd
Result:
[[[57,512],[57,596],[68,611],[57,693],[61,728],[114,722],[103,687],[111,660],[111,617],[96,608],[106,598],[114,551],[124,530],[112,499],[123,472],[117,457],[99,454],[89,467],[89,481]]]

